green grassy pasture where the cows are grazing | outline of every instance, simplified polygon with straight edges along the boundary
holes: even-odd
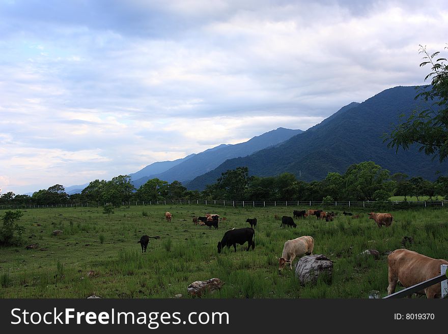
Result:
[[[406,248],[448,259],[444,208],[389,211],[394,216],[389,228],[378,228],[367,211],[351,210],[361,214],[352,219],[343,216],[341,209],[335,211],[338,216],[333,222],[294,219],[297,228],[282,229],[274,215],[292,217],[294,209],[307,208],[123,206],[110,215],[103,214],[102,207],[26,209],[18,221],[26,228],[23,246],[0,248],[0,297],[173,298],[182,294],[190,298],[190,283],[216,277],[225,285],[205,297],[367,298],[371,290],[387,294],[383,253],[402,248],[404,236],[413,238]],[[171,222],[165,221],[165,211],[173,214]],[[192,223],[192,216],[206,212],[227,220],[217,230]],[[257,218],[255,250],[246,252],[246,243],[237,245],[236,253],[231,247],[218,254],[222,235],[234,227],[249,227],[247,218]],[[64,233],[52,235],[57,229]],[[146,254],[137,243],[144,234],[160,236],[150,239]],[[324,254],[334,262],[331,285],[300,286],[289,267],[278,275],[276,257],[281,256],[284,242],[302,235],[315,239],[313,254]],[[25,249],[31,244],[39,247]],[[366,249],[378,250],[380,259],[359,255]]]

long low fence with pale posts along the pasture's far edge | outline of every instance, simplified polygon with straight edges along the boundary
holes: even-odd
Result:
[[[205,205],[205,206],[233,206],[233,207],[319,207],[323,209],[344,209],[356,208],[423,208],[423,207],[443,207],[446,201],[233,201],[233,200],[156,200],[156,201],[122,201],[122,206],[147,206],[147,205]],[[100,207],[108,203],[70,203],[70,204],[0,204],[0,209],[32,209],[32,208],[58,208],[58,207]]]

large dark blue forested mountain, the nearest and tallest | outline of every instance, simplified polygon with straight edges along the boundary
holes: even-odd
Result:
[[[392,174],[403,172],[426,179],[437,178],[436,172],[448,172],[448,164],[409,150],[388,149],[382,135],[398,124],[400,114],[428,107],[428,102],[414,100],[415,87],[384,90],[362,103],[351,103],[320,124],[294,136],[276,147],[260,150],[248,157],[229,159],[216,169],[186,184],[190,190],[203,190],[229,169],[247,166],[250,175],[272,176],[290,172],[305,181],[319,180],[328,172],[345,173],[351,164],[374,161]]]

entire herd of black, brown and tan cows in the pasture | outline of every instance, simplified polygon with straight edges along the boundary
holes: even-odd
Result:
[[[351,212],[343,212],[344,216],[351,216],[353,219],[360,218],[360,215],[353,215]],[[280,227],[297,227],[294,223],[294,219],[304,219],[306,217],[316,216],[318,220],[325,220],[326,222],[333,221],[336,216],[334,212],[326,212],[323,210],[294,210],[293,217],[283,216],[281,219],[275,215],[275,220],[281,220],[282,224]],[[165,213],[165,219],[167,222],[171,222],[172,214],[170,212]],[[394,217],[389,213],[375,213],[370,212],[369,219],[373,219],[379,228],[382,226],[391,226]],[[218,215],[206,214],[205,217],[193,217],[193,223],[195,225],[205,225],[209,229],[211,227],[218,228],[219,222],[226,220],[226,218],[220,218]],[[244,245],[246,242],[248,244],[247,250],[250,247],[252,250],[255,249],[255,230],[257,228],[257,219],[247,219],[246,223],[250,224],[250,227],[245,228],[233,228],[224,233],[221,241],[218,242],[217,249],[218,253],[227,246],[230,248],[234,247],[236,252],[236,244]],[[159,236],[148,236],[143,235],[138,241],[142,247],[142,253],[146,252],[148,242],[150,238],[158,239]],[[311,255],[314,249],[314,238],[309,235],[300,236],[298,238],[287,240],[283,247],[282,257],[278,259],[278,272],[285,265],[289,264],[292,269],[292,262],[296,257],[301,257],[303,255]],[[395,292],[395,288],[398,282],[400,282],[405,288],[413,286],[415,284],[424,282],[430,278],[440,275],[440,265],[448,264],[446,260],[437,260],[427,257],[422,254],[418,254],[407,249],[398,249],[391,252],[387,257],[388,262],[388,287],[387,294],[390,295]],[[432,285],[417,292],[418,294],[426,295],[427,298],[437,298],[441,296],[441,286],[440,283]]]

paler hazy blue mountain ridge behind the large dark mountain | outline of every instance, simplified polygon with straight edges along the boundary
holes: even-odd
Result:
[[[169,183],[174,180],[184,183],[185,181],[191,180],[199,175],[215,169],[227,159],[248,156],[260,149],[278,145],[279,143],[282,143],[292,136],[302,132],[302,130],[278,128],[276,130],[266,132],[260,136],[256,136],[243,143],[235,145],[222,144],[198,153],[197,155],[182,161],[180,164],[162,173],[147,175],[140,179],[135,179],[133,184],[135,188],[138,188],[145,184],[148,179],[155,177]]]

